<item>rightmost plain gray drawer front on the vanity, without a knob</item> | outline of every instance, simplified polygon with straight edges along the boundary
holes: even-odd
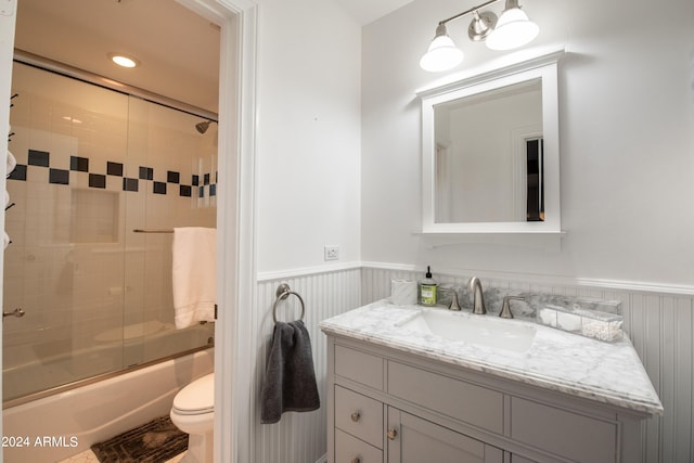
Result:
[[[513,397],[511,437],[577,462],[615,462],[617,424]]]

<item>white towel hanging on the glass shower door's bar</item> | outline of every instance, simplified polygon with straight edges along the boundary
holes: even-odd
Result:
[[[217,230],[174,229],[174,309],[177,329],[215,320]]]

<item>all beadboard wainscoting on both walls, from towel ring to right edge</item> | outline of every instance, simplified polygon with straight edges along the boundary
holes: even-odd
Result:
[[[255,371],[256,416],[249,426],[254,429],[256,461],[258,463],[318,462],[325,453],[325,402],[311,413],[285,413],[279,424],[260,425],[258,397],[262,385],[262,372],[272,334],[272,305],[274,292],[282,281],[299,292],[306,299],[307,326],[313,348],[313,361],[321,394],[324,394],[326,359],[324,335],[317,322],[388,297],[391,279],[419,280],[420,271],[394,266],[367,265],[351,270],[297,275],[284,279],[265,279],[257,286],[257,311],[254,333],[257,333]],[[439,283],[464,287],[471,275],[436,275]],[[658,393],[665,415],[650,419],[643,424],[646,458],[642,463],[689,463],[694,461],[694,295],[680,291],[648,291],[632,285],[629,290],[618,284],[557,283],[558,279],[537,280],[532,283],[520,279],[483,278],[485,288],[502,288],[509,292],[530,292],[566,296],[581,296],[620,300],[626,331],[641,356],[651,381]],[[281,307],[286,307],[282,305]],[[283,309],[283,310],[284,310]],[[295,312],[279,313],[281,320],[298,316]],[[639,462],[629,462],[639,463]]]

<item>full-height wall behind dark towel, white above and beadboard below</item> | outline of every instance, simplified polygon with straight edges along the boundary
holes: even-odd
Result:
[[[253,309],[239,309],[249,322],[242,346],[247,369],[235,373],[250,386],[250,415],[240,424],[249,448],[239,453],[258,463],[316,462],[326,451],[325,403],[261,425],[258,398],[281,282],[306,301],[321,393],[325,338],[317,323],[359,305],[359,270],[340,268],[360,253],[361,27],[332,0],[257,3],[258,284]],[[325,262],[324,245],[338,245],[340,259]],[[307,271],[319,273],[301,276]],[[295,303],[282,303],[278,319],[293,320],[287,305]]]

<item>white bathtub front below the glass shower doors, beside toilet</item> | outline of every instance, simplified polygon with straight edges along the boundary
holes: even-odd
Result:
[[[213,365],[207,349],[5,409],[3,461],[55,463],[164,416],[176,393]]]

